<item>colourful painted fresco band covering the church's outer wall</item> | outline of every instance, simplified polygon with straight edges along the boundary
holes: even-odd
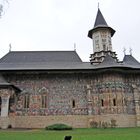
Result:
[[[16,116],[135,114],[132,85],[139,76],[123,74],[15,74],[8,81],[20,87],[10,114]],[[87,85],[90,87],[88,94]]]

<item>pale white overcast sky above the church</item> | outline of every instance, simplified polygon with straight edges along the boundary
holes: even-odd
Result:
[[[3,0],[0,0],[2,2]],[[12,51],[74,50],[83,61],[93,52],[87,37],[93,28],[98,2],[108,23],[116,30],[113,50],[122,60],[126,48],[140,61],[139,0],[9,0],[0,19],[0,57]]]

